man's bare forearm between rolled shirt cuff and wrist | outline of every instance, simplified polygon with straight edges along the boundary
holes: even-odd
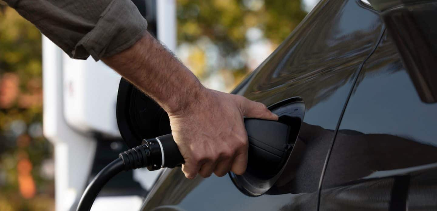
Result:
[[[148,32],[131,48],[102,59],[168,113],[184,110],[204,86]]]

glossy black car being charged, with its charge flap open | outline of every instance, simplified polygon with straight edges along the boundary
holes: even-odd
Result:
[[[322,0],[232,93],[290,125],[286,162],[194,180],[166,169],[142,210],[437,210],[437,1]],[[128,145],[170,133],[132,85],[118,98]]]

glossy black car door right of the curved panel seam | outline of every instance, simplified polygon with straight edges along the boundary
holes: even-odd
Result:
[[[432,86],[426,90],[427,81],[437,80],[418,80],[426,69],[406,68],[414,61],[399,54],[394,36],[385,31],[354,85],[328,157],[319,210],[437,210],[437,103]]]

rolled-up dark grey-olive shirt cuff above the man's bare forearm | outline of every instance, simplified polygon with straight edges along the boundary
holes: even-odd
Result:
[[[147,21],[131,0],[112,0],[95,27],[75,46],[73,59],[98,61],[115,55],[137,42],[147,29]]]

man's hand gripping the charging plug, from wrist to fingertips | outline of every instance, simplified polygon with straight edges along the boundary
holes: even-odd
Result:
[[[173,138],[185,164],[188,179],[224,176],[230,170],[243,174],[247,165],[248,140],[243,116],[277,120],[264,104],[239,95],[201,89],[192,104],[169,113]]]

